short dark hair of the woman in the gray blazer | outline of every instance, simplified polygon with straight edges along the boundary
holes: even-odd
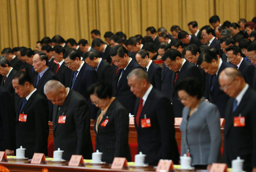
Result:
[[[182,78],[175,84],[175,91],[184,90],[190,96],[197,96],[197,99],[202,98],[202,85],[197,78],[186,77]]]

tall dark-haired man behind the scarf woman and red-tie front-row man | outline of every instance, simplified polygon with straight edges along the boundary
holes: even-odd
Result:
[[[128,57],[128,51],[121,45],[113,46],[110,55],[113,63],[119,67],[117,75],[113,75],[113,96],[125,107],[128,113],[133,113],[136,96],[131,92],[126,76],[131,70],[142,67]]]

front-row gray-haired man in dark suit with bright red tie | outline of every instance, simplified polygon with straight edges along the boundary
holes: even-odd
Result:
[[[137,97],[134,114],[138,152],[146,154],[145,163],[149,165],[157,165],[160,159],[178,163],[179,152],[170,100],[153,88],[143,69],[132,70],[127,78],[131,91]]]

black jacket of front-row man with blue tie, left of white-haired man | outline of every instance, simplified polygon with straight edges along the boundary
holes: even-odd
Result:
[[[32,158],[35,152],[47,155],[48,102],[38,91],[35,91],[21,109],[21,113],[27,115],[27,121],[20,122],[19,112],[23,99],[20,100],[19,111],[16,113],[16,147],[26,148],[26,158]]]

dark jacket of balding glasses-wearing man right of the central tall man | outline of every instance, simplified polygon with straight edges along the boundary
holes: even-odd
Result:
[[[162,68],[153,61],[147,71],[150,83],[159,91],[161,91],[161,71]]]

